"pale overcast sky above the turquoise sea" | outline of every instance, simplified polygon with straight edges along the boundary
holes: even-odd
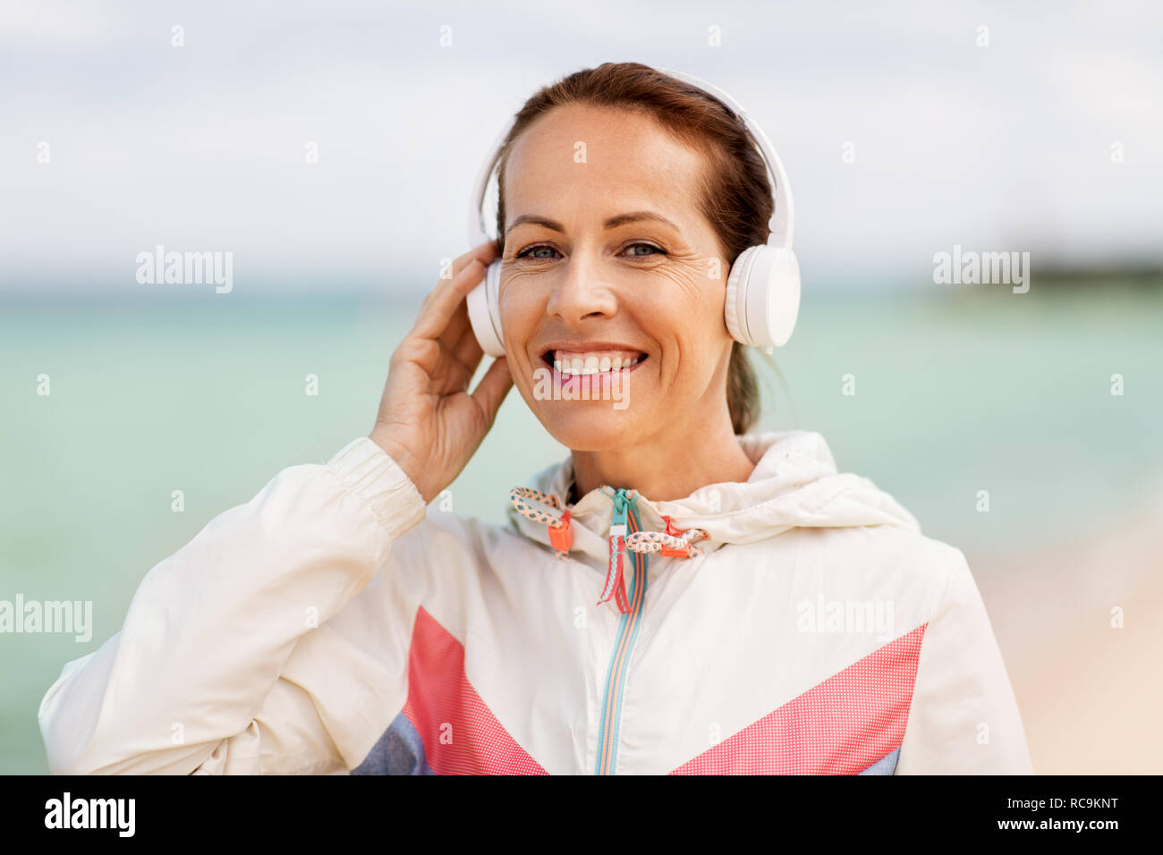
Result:
[[[758,119],[805,286],[925,279],[955,243],[1163,256],[1163,3],[481,6],[0,0],[0,286],[131,288],[162,243],[233,251],[236,291],[427,291],[507,116],[626,59]]]

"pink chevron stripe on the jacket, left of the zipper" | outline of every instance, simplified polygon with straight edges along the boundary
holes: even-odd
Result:
[[[412,630],[404,714],[437,775],[547,775],[469,683],[464,646],[422,606]]]

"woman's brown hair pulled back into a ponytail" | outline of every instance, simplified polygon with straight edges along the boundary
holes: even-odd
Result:
[[[684,143],[702,150],[709,169],[700,181],[700,208],[734,264],[748,247],[766,243],[773,202],[766,168],[750,133],[709,93],[641,63],[602,63],[544,86],[516,113],[499,154],[497,234],[505,247],[505,163],[514,141],[554,107],[585,104],[654,117]],[[727,408],[736,434],[759,416],[759,390],[743,345],[732,345]]]

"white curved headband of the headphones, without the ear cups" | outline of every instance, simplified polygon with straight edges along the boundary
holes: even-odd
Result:
[[[713,86],[705,80],[700,80],[693,74],[687,74],[675,69],[656,67],[655,71],[659,71],[677,80],[682,80],[683,83],[690,84],[691,86],[702,90],[705,93],[718,98],[743,122],[743,126],[748,129],[748,131],[750,131],[752,141],[757,143],[757,149],[768,168],[773,186],[775,213],[768,223],[770,229],[768,245],[785,247],[791,249],[794,226],[792,191],[787,184],[784,164],[779,159],[779,155],[776,152],[776,149],[768,140],[768,135],[763,133],[763,128],[751,120],[747,111],[743,109],[739,101],[718,86]],[[477,183],[472,192],[475,207],[469,212],[469,241],[473,247],[488,240],[488,231],[485,228],[485,193],[488,190],[488,180],[493,176],[493,169],[497,166],[497,159],[500,156],[501,145],[505,143],[505,137],[507,137],[509,131],[513,129],[515,121],[515,117],[509,120],[505,128],[501,129],[500,134],[498,134],[495,142],[490,149],[488,156],[485,158],[485,162],[477,174]]]

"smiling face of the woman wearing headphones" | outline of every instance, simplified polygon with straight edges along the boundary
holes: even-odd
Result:
[[[699,211],[706,169],[652,119],[580,105],[541,116],[509,154],[506,355],[573,450],[697,436],[725,418],[728,265]]]

